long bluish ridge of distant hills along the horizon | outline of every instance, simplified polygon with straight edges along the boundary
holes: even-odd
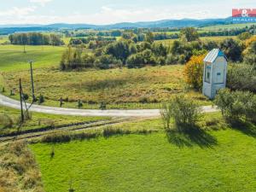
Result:
[[[205,19],[205,20],[156,20],[156,21],[144,21],[144,22],[123,22],[111,25],[92,25],[92,24],[67,24],[67,23],[55,23],[50,25],[0,25],[0,34],[9,34],[13,32],[42,32],[53,31],[58,29],[130,29],[130,28],[181,28],[186,26],[214,26],[231,24],[232,19]]]

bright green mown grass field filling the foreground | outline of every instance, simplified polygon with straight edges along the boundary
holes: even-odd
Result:
[[[45,191],[67,191],[71,181],[79,192],[256,189],[255,131],[243,127],[179,137],[166,135],[158,119],[119,126],[159,132],[59,143],[53,158],[53,144],[31,145]]]

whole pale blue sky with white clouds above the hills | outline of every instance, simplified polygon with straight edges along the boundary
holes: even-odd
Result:
[[[0,25],[113,24],[166,19],[231,16],[232,9],[255,9],[255,0],[0,0]]]

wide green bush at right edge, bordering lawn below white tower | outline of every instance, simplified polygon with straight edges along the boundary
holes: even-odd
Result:
[[[249,91],[218,91],[214,103],[221,109],[224,118],[230,122],[248,119],[254,122],[256,113],[256,96]]]

